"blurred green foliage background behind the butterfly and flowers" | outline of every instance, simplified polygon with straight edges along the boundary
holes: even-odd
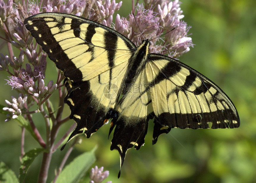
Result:
[[[118,13],[127,17],[130,7],[130,1],[123,2]],[[182,0],[181,4],[183,20],[192,26],[189,33],[195,46],[179,60],[207,76],[230,97],[240,116],[238,129],[172,129],[152,146],[153,124],[149,124],[145,145],[139,151],[127,152],[121,177],[117,179],[119,154],[110,151],[112,135],[108,140],[109,126],[104,125],[89,139],[83,137],[82,144],[76,145],[68,161],[97,144],[94,166],[109,170],[106,181],[113,183],[256,182],[255,7],[254,0]],[[4,48],[0,52],[8,54]],[[55,65],[49,61],[47,67],[45,83],[55,82]],[[5,105],[5,99],[11,100],[11,95],[18,97],[18,94],[4,85],[6,73],[0,72],[0,77],[0,104]],[[57,107],[55,98],[51,101]],[[70,113],[67,105],[65,113],[66,116]],[[21,128],[15,121],[5,123],[4,119],[1,114],[0,160],[18,175]],[[40,114],[35,114],[33,119],[44,138],[43,119]],[[72,124],[71,120],[64,124],[59,137]],[[38,144],[26,133],[25,151],[36,147]],[[54,169],[60,165],[66,150],[58,150],[53,155],[48,182],[53,179]],[[35,159],[25,182],[35,182],[41,159],[42,155]]]

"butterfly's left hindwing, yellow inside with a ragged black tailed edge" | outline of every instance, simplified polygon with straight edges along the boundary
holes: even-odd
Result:
[[[68,94],[65,103],[71,109],[70,118],[77,122],[77,127],[69,140],[83,131],[89,138],[104,124],[106,113],[114,108],[116,103],[116,89],[121,85],[118,75],[124,75],[126,69],[127,64],[122,63],[89,81],[66,82]]]

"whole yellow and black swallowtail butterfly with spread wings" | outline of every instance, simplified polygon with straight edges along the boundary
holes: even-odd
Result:
[[[149,119],[153,144],[171,128],[240,125],[216,84],[180,61],[149,53],[149,40],[136,47],[109,27],[69,14],[40,13],[24,24],[66,77],[65,103],[77,123],[68,141],[82,132],[89,138],[112,119],[110,149],[118,150],[121,167],[127,150],[144,144]]]

